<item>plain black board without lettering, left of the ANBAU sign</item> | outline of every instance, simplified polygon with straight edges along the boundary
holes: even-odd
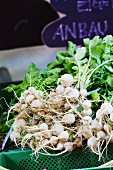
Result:
[[[43,28],[57,18],[44,0],[0,0],[0,50],[43,44]]]

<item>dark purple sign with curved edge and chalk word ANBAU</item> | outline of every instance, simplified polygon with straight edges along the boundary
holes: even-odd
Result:
[[[49,47],[63,47],[67,40],[82,44],[83,38],[113,34],[113,0],[51,0],[52,7],[65,16],[43,30]]]

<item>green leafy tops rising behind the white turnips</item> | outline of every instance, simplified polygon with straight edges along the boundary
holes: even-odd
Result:
[[[107,35],[103,39],[99,36],[92,40],[83,40],[84,46],[77,48],[72,42],[68,42],[68,48],[58,51],[56,60],[49,63],[42,70],[31,64],[19,85],[10,85],[7,91],[15,91],[17,96],[30,86],[48,90],[57,85],[58,78],[65,73],[72,74],[77,88],[87,88],[92,91],[101,88],[100,96],[109,98],[109,92],[113,90],[113,36]],[[110,94],[111,95],[111,94]]]

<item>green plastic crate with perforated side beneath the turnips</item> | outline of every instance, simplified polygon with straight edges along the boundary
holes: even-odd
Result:
[[[98,156],[93,154],[89,149],[75,149],[70,154],[63,156],[31,156],[32,151],[29,149],[10,150],[0,153],[0,165],[10,170],[74,170],[74,169],[106,169],[113,167],[98,167],[105,162],[113,159],[113,145],[108,148],[108,154],[103,155],[103,159],[99,162]],[[97,167],[97,168],[92,168]]]

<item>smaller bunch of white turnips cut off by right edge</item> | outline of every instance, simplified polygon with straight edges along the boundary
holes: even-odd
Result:
[[[90,125],[91,137],[87,145],[91,150],[102,157],[109,143],[113,143],[113,106],[109,102],[104,102],[96,112],[96,117]],[[102,145],[106,142],[105,147]]]

